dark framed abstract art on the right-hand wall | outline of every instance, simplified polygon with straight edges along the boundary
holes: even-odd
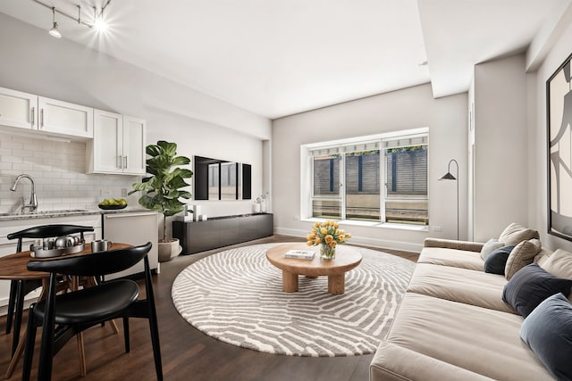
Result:
[[[548,233],[572,241],[572,87],[570,59],[546,81]]]

